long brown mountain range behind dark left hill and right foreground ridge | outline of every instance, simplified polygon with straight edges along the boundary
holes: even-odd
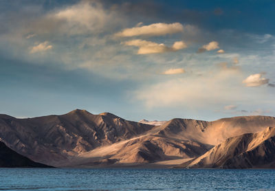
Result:
[[[200,157],[229,137],[275,126],[267,116],[206,122],[131,122],[76,109],[65,115],[17,119],[0,115],[0,141],[33,161],[56,167],[172,166]]]

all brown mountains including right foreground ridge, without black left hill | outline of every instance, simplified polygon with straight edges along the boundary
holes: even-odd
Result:
[[[26,119],[2,114],[0,141],[58,168],[275,168],[275,117],[268,116],[131,122],[80,109]],[[0,159],[9,156],[1,148]]]

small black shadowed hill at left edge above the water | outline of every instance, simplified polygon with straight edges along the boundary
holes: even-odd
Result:
[[[36,163],[27,157],[19,155],[0,142],[0,168],[51,168],[50,166]]]

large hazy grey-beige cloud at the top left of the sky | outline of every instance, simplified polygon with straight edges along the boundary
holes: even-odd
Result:
[[[105,9],[100,1],[80,1],[47,14],[43,18],[45,27],[36,25],[65,34],[102,34],[118,27],[123,20],[120,13]]]

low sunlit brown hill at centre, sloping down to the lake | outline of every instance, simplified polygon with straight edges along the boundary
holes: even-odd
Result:
[[[60,167],[137,166],[157,161],[189,159],[206,153],[212,146],[155,135],[142,135],[80,154]]]

